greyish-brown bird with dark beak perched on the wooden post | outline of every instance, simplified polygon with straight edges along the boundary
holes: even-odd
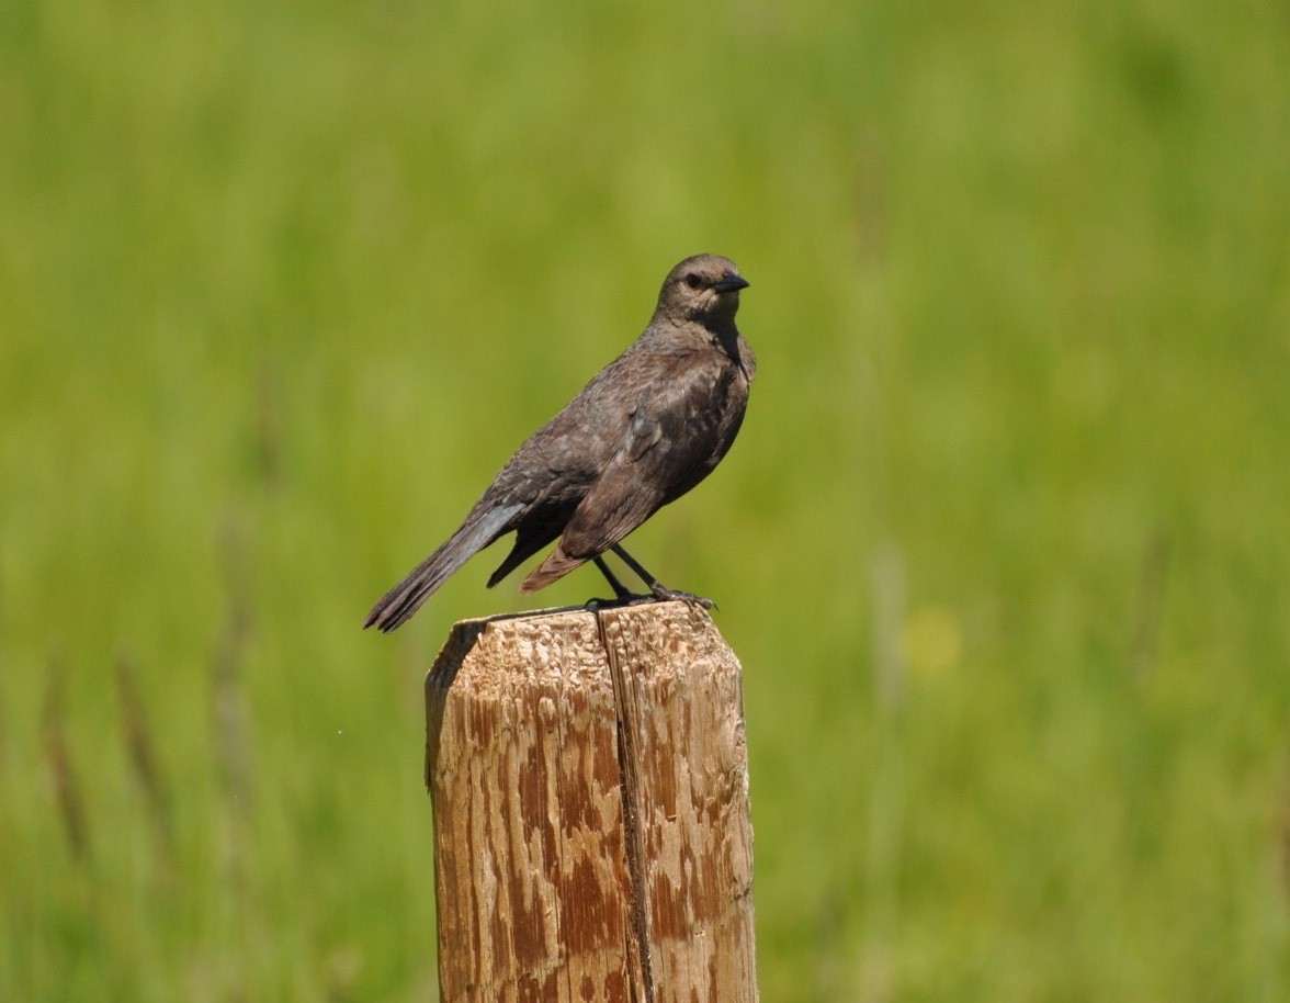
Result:
[[[757,369],[735,327],[748,285],[733,261],[716,254],[673,267],[640,337],[515,451],[457,532],[377,602],[364,629],[388,633],[406,622],[449,576],[511,532],[511,552],[490,589],[556,543],[521,593],[592,562],[618,600],[682,598],[711,608],[659,583],[622,541],[711,474],[734,443]],[[623,586],[606,551],[645,582],[646,595]]]

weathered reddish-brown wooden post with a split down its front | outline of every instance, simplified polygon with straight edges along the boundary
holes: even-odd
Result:
[[[706,612],[462,621],[426,720],[444,1003],[756,1003],[740,670]]]

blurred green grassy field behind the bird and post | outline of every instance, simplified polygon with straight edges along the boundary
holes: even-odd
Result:
[[[422,675],[600,586],[359,625],[700,250],[762,998],[1290,998],[1284,4],[9,0],[0,136],[0,999],[435,997]]]

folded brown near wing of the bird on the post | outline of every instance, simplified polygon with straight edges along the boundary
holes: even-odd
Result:
[[[604,552],[708,474],[722,452],[729,378],[721,367],[685,360],[662,391],[655,385],[642,395],[620,448],[565,527],[565,554],[590,559]]]

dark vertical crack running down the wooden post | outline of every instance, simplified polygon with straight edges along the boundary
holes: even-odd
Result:
[[[614,688],[614,716],[618,731],[618,769],[623,793],[623,849],[627,856],[627,874],[631,879],[628,958],[633,958],[644,988],[642,1003],[654,1003],[654,966],[649,937],[649,888],[645,875],[645,835],[641,826],[641,791],[636,746],[636,693],[632,679],[623,671],[619,649],[610,643],[608,623],[601,611],[596,612],[596,630],[609,664],[609,678]],[[614,626],[618,626],[617,618]],[[631,980],[632,998],[636,999],[636,978]]]

